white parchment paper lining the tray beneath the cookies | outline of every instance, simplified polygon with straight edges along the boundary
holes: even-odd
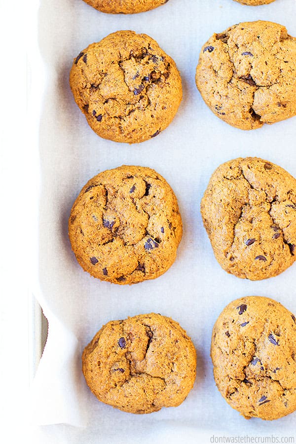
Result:
[[[296,413],[273,422],[245,420],[215,387],[210,361],[213,324],[240,296],[269,296],[296,312],[296,265],[251,282],[228,275],[212,253],[199,205],[214,169],[239,156],[259,156],[296,177],[296,117],[244,132],[216,117],[194,82],[202,44],[242,21],[270,20],[296,36],[294,0],[248,7],[232,0],[170,0],[135,15],[103,14],[82,0],[41,0],[38,44],[46,87],[39,122],[39,233],[34,293],[49,321],[32,402],[42,442],[125,443],[141,440],[210,442],[213,435],[293,436]],[[128,146],[99,138],[74,103],[69,87],[73,58],[93,41],[120,29],[155,38],[175,60],[184,99],[173,123],[158,137]],[[34,85],[33,85],[34,88]],[[38,91],[40,95],[40,92]],[[41,97],[41,95],[40,95]],[[173,266],[161,277],[133,286],[100,282],[80,268],[68,239],[68,217],[81,187],[95,174],[122,164],[154,168],[174,189],[184,236]],[[80,370],[82,348],[102,324],[158,312],[178,321],[198,356],[194,389],[177,408],[132,415],[104,405],[88,390]],[[225,419],[226,418],[226,419]]]

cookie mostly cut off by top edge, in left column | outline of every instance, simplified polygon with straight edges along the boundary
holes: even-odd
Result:
[[[93,8],[110,14],[135,14],[157,8],[169,0],[84,0]]]

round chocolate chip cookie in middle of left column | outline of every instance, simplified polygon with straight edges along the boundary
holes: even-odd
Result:
[[[156,171],[121,166],[93,177],[69,219],[72,249],[92,276],[135,284],[163,274],[182,237],[177,198]]]

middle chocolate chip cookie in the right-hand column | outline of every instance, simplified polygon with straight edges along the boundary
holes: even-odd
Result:
[[[220,165],[201,214],[216,259],[228,273],[266,279],[296,259],[296,179],[267,160],[246,157]]]

